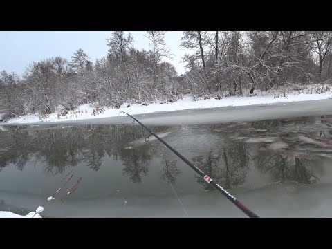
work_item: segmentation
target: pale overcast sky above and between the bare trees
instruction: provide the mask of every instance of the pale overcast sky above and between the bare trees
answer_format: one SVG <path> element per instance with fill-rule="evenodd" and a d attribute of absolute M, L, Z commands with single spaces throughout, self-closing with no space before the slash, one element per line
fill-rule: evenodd
<path fill-rule="evenodd" d="M 89 55 L 91 60 L 107 55 L 106 39 L 111 31 L 0 31 L 0 71 L 24 73 L 31 62 L 39 62 L 48 57 L 64 57 L 71 59 L 79 48 Z M 145 31 L 133 31 L 133 46 L 139 50 L 149 50 L 149 39 Z M 165 42 L 174 54 L 171 62 L 178 75 L 185 73 L 185 64 L 181 63 L 184 48 L 180 47 L 182 31 L 169 31 Z"/>

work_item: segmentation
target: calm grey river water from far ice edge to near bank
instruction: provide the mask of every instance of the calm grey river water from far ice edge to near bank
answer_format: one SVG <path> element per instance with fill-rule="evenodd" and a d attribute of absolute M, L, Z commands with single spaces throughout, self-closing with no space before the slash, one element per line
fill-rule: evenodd
<path fill-rule="evenodd" d="M 184 207 L 190 217 L 246 216 L 130 121 L 2 128 L 0 210 L 186 217 Z M 149 128 L 259 216 L 332 216 L 332 116 Z"/>

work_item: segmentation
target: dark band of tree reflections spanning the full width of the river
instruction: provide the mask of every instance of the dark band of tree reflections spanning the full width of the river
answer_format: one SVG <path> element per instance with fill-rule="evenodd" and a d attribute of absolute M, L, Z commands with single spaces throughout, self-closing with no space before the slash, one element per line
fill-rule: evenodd
<path fill-rule="evenodd" d="M 168 140 L 170 127 L 150 127 L 163 132 Z M 194 129 L 194 128 L 192 128 Z M 230 189 L 245 183 L 248 170 L 269 174 L 273 181 L 317 183 L 322 172 L 322 160 L 332 154 L 331 116 L 262 120 L 219 126 L 201 126 L 201 134 L 224 145 L 216 147 L 202 141 L 204 154 L 195 154 L 189 160 L 211 176 L 214 181 Z M 165 133 L 165 131 L 167 131 Z M 232 131 L 232 132 L 230 132 Z M 185 132 L 177 129 L 176 139 Z M 197 134 L 197 132 L 196 132 Z M 160 142 L 144 142 L 148 134 L 136 125 L 86 125 L 77 127 L 8 127 L 0 131 L 0 170 L 12 164 L 19 170 L 32 161 L 44 166 L 48 174 L 59 174 L 68 167 L 84 163 L 93 171 L 102 167 L 105 158 L 122 163 L 122 174 L 133 183 L 142 183 L 149 174 L 149 162 L 159 160 L 160 178 L 175 183 L 181 174 L 178 162 L 160 154 Z M 142 143 L 135 142 L 142 140 Z M 199 145 L 195 145 L 199 146 Z M 181 152 L 181 148 L 175 148 Z M 183 165 L 183 162 L 181 162 Z M 252 167 L 251 167 L 251 166 Z M 202 178 L 196 177 L 205 189 L 212 190 Z"/>

